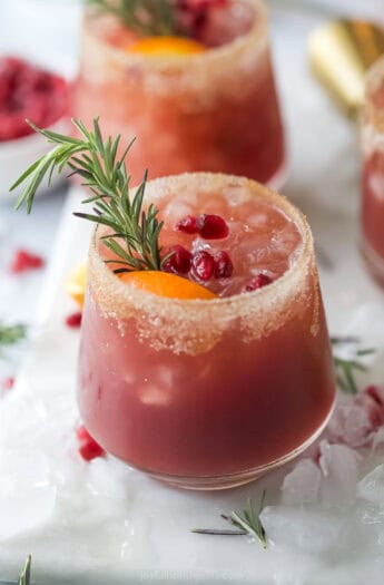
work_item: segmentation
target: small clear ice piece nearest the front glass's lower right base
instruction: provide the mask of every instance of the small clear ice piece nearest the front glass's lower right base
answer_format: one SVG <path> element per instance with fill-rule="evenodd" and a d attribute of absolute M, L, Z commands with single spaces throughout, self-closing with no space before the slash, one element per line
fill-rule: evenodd
<path fill-rule="evenodd" d="M 322 471 L 312 459 L 302 459 L 285 476 L 282 486 L 282 500 L 286 505 L 312 504 L 317 501 Z"/>

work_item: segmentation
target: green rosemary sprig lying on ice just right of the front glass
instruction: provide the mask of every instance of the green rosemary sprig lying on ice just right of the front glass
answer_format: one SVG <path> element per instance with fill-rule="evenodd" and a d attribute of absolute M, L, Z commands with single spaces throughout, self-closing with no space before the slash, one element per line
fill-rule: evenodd
<path fill-rule="evenodd" d="M 333 347 L 341 345 L 345 343 L 358 343 L 358 338 L 355 337 L 346 337 L 346 338 L 338 338 L 334 337 L 331 338 Z M 354 355 L 348 358 L 341 358 L 334 353 L 334 367 L 335 367 L 335 373 L 336 373 L 336 382 L 338 388 L 347 393 L 347 394 L 356 394 L 358 391 L 357 383 L 355 380 L 355 373 L 356 372 L 366 372 L 367 367 L 362 361 L 362 358 L 365 358 L 366 355 L 372 355 L 375 353 L 375 349 L 357 349 L 354 352 Z"/>

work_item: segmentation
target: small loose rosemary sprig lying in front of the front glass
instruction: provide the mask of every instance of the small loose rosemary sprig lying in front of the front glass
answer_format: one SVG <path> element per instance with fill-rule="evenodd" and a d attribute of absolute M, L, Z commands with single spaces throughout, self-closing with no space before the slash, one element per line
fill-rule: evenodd
<path fill-rule="evenodd" d="M 221 514 L 221 518 L 237 527 L 237 530 L 220 530 L 217 528 L 193 528 L 194 534 L 220 535 L 220 536 L 252 536 L 259 540 L 263 548 L 267 547 L 267 536 L 260 520 L 260 514 L 265 508 L 266 489 L 263 491 L 258 510 L 255 514 L 252 499 L 247 499 L 247 506 L 243 515 L 232 511 L 229 516 Z"/>

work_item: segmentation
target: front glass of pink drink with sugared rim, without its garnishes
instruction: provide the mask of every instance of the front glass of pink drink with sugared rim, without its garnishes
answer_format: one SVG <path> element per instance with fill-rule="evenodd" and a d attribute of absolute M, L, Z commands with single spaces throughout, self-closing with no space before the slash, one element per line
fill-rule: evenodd
<path fill-rule="evenodd" d="M 165 250 L 229 253 L 221 298 L 179 301 L 122 283 L 96 233 L 89 255 L 78 400 L 110 454 L 179 487 L 249 481 L 305 449 L 335 396 L 309 227 L 286 199 L 252 181 L 195 174 L 147 186 Z M 219 214 L 224 240 L 175 231 Z M 110 266 L 110 265 L 109 265 Z M 245 292 L 255 275 L 274 282 Z M 200 281 L 198 281 L 200 282 Z"/>

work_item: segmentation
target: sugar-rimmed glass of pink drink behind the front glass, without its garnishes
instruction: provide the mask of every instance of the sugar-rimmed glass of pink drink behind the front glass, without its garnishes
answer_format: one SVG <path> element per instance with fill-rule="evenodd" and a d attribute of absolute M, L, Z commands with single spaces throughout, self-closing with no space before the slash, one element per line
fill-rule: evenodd
<path fill-rule="evenodd" d="M 210 170 L 279 185 L 285 153 L 260 0 L 211 10 L 197 55 L 131 53 L 137 37 L 114 18 L 88 11 L 82 28 L 75 114 L 100 116 L 106 135 L 137 136 L 134 183 Z"/>

